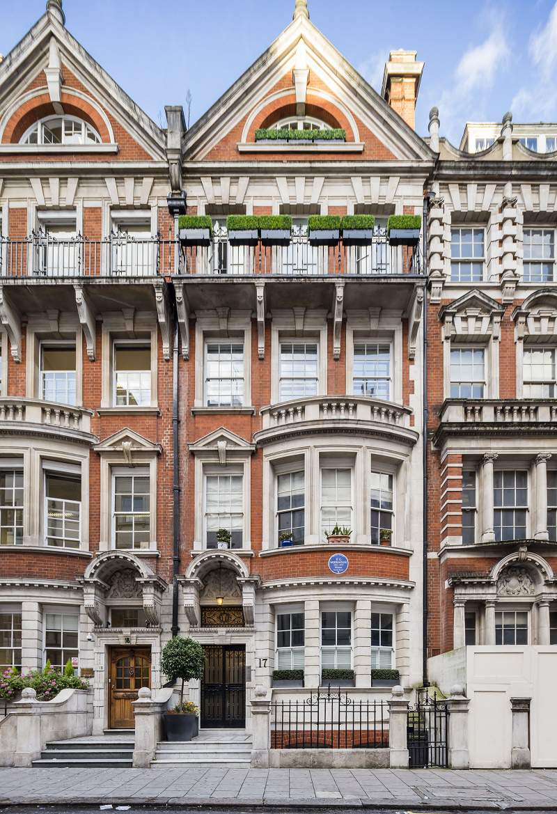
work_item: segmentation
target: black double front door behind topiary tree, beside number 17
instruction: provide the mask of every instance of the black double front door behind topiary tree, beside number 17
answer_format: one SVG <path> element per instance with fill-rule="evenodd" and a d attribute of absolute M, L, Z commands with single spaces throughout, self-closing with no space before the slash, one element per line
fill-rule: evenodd
<path fill-rule="evenodd" d="M 246 725 L 246 648 L 206 645 L 201 684 L 201 726 L 204 729 Z"/>

